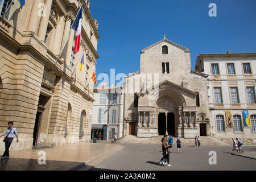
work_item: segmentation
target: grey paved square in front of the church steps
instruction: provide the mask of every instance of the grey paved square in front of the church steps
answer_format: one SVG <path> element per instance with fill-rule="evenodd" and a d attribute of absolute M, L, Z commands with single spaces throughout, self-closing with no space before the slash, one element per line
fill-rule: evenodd
<path fill-rule="evenodd" d="M 162 147 L 158 144 L 122 144 L 124 148 L 97 164 L 90 170 L 256 170 L 256 160 L 243 156 L 231 155 L 232 146 L 184 146 L 178 154 L 176 146 L 170 154 L 172 167 L 159 166 L 162 158 Z M 256 146 L 243 146 L 243 150 L 250 155 L 256 154 Z M 209 164 L 209 151 L 216 151 L 217 164 Z M 79 170 L 85 170 L 82 167 Z"/>

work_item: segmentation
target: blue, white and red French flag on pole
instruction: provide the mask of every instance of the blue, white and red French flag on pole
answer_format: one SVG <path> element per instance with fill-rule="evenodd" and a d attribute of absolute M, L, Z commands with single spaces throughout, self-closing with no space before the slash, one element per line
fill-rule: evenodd
<path fill-rule="evenodd" d="M 80 7 L 79 13 L 77 13 L 76 19 L 72 24 L 72 28 L 76 31 L 76 43 L 74 52 L 79 52 L 79 47 L 81 43 L 81 29 L 82 29 L 82 6 Z"/>

